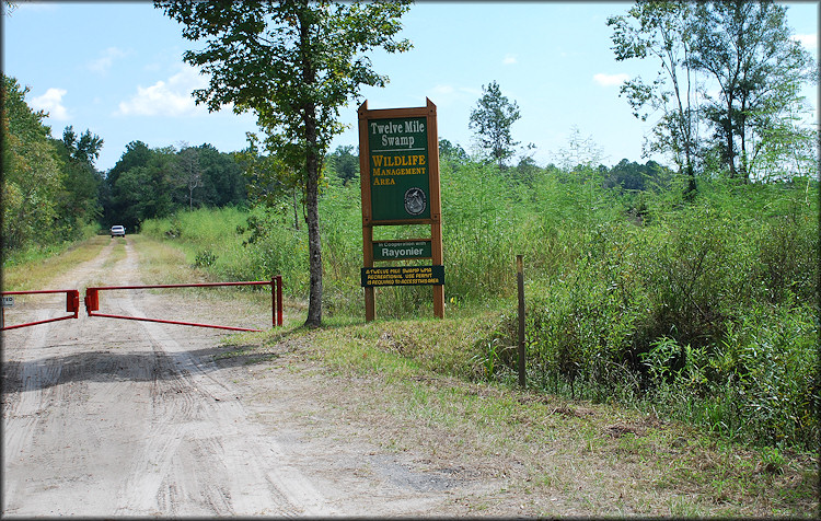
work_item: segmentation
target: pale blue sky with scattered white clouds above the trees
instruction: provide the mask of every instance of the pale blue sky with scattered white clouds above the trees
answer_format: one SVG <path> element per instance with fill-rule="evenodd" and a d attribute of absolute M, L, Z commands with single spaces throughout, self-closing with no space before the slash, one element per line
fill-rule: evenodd
<path fill-rule="evenodd" d="M 183 38 L 182 25 L 151 2 L 16 2 L 2 16 L 3 72 L 30 89 L 26 102 L 48 113 L 56 138 L 71 125 L 104 140 L 96 167 L 106 172 L 136 140 L 151 148 L 209 143 L 242 150 L 257 131 L 253 114 L 209 113 L 192 91 L 207 78 L 182 55 L 200 44 Z M 818 59 L 818 2 L 784 2 L 795 37 Z M 621 83 L 656 78 L 658 63 L 616 61 L 609 16 L 633 2 L 432 2 L 414 4 L 402 18 L 404 54 L 374 51 L 374 69 L 390 78 L 362 88 L 340 121 L 349 128 L 332 143 L 358 146 L 357 108 L 437 105 L 439 138 L 474 150 L 471 111 L 483 88 L 496 81 L 521 118 L 511 126 L 520 148 L 540 165 L 559 163 L 573 132 L 589 138 L 601 163 L 644 163 L 641 146 L 652 121 L 632 115 Z M 805 95 L 818 105 L 817 86 Z M 816 111 L 817 114 L 817 111 Z M 522 150 L 521 153 L 524 153 Z M 520 154 L 521 155 L 521 154 Z M 651 157 L 670 164 L 663 157 Z"/>

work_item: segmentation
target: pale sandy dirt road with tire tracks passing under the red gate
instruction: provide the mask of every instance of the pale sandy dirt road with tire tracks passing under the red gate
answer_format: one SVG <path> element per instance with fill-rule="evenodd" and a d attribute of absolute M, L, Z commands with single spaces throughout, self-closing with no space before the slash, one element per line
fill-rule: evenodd
<path fill-rule="evenodd" d="M 118 241 L 43 289 L 82 299 L 88 286 L 141 283 L 131 239 L 114 256 Z M 192 296 L 109 293 L 101 303 L 117 314 L 270 320 L 269 309 L 208 309 Z M 14 321 L 47 317 L 37 308 L 19 306 Z M 335 392 L 327 379 L 219 363 L 227 334 L 84 309 L 3 332 L 3 517 L 452 516 L 498 490 L 346 428 L 344 410 L 322 403 Z"/>

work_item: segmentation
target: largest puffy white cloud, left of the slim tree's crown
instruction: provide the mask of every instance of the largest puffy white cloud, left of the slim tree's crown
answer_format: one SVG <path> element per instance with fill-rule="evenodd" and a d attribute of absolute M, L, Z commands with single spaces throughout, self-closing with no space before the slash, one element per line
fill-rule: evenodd
<path fill-rule="evenodd" d="M 158 81 L 151 86 L 137 85 L 137 94 L 120 102 L 118 116 L 193 116 L 205 114 L 207 108 L 194 103 L 192 92 L 208 85 L 208 79 L 198 69 L 185 66 L 182 71 Z"/>

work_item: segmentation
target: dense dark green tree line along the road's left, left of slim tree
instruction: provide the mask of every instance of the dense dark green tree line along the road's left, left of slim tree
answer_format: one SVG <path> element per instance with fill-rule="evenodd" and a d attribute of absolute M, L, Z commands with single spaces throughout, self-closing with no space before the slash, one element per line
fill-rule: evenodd
<path fill-rule="evenodd" d="M 72 242 L 101 228 L 139 230 L 146 219 L 187 208 L 247 202 L 242 160 L 210 144 L 150 148 L 128 143 L 107 172 L 95 162 L 104 140 L 90 130 L 51 137 L 47 116 L 25 102 L 27 88 L 3 74 L 3 259 Z"/>

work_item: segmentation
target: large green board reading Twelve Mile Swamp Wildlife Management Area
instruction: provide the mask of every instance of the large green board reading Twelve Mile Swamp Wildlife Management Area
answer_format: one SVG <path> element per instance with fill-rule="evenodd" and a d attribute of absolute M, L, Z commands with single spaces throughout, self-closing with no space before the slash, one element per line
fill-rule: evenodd
<path fill-rule="evenodd" d="M 369 119 L 371 219 L 430 219 L 426 117 Z"/>

